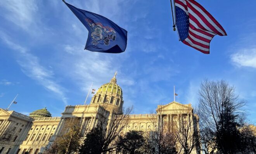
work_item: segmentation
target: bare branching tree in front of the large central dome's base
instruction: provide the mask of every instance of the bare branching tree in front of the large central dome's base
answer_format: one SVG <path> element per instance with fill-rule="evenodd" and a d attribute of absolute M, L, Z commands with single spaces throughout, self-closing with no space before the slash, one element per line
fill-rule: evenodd
<path fill-rule="evenodd" d="M 115 151 L 116 145 L 114 140 L 117 139 L 120 132 L 127 126 L 130 121 L 129 114 L 132 111 L 131 108 L 119 109 L 116 106 L 110 104 L 100 104 L 97 109 L 97 129 L 99 129 L 99 146 L 100 153 L 107 153 Z M 88 148 L 88 147 L 87 147 Z M 93 148 L 93 147 L 92 147 Z M 81 153 L 86 153 L 83 151 L 83 147 L 80 149 Z"/>

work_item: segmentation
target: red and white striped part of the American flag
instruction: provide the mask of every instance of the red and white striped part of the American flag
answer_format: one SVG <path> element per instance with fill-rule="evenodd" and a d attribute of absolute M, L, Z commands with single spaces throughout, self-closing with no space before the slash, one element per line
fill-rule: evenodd
<path fill-rule="evenodd" d="M 189 35 L 182 41 L 184 44 L 209 54 L 211 39 L 215 35 L 227 35 L 218 21 L 195 0 L 175 0 L 175 6 L 189 15 Z"/>

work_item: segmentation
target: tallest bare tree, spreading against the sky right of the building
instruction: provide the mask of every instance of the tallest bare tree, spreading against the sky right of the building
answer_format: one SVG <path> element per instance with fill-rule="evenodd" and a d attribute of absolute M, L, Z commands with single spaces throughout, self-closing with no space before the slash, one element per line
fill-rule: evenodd
<path fill-rule="evenodd" d="M 210 132 L 208 134 L 212 135 L 212 139 L 206 139 L 215 140 L 218 151 L 223 154 L 234 153 L 239 147 L 237 123 L 244 112 L 244 105 L 245 101 L 238 98 L 235 88 L 226 81 L 202 82 L 199 89 L 200 128 Z"/>

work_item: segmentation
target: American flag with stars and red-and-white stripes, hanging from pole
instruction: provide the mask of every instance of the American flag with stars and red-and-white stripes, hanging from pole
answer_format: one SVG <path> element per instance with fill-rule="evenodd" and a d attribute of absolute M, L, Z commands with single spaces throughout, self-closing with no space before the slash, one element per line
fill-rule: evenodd
<path fill-rule="evenodd" d="M 175 13 L 180 41 L 202 53 L 210 53 L 215 35 L 227 35 L 219 22 L 194 0 L 175 0 Z"/>

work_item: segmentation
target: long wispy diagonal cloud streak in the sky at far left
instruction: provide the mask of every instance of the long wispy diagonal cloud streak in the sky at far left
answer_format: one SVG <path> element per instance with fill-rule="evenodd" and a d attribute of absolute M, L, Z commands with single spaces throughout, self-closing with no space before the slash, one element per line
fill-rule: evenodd
<path fill-rule="evenodd" d="M 66 91 L 62 86 L 54 81 L 54 72 L 48 70 L 47 68 L 40 65 L 40 60 L 37 56 L 32 55 L 29 51 L 20 46 L 17 43 L 12 42 L 12 40 L 5 33 L 1 32 L 0 38 L 4 43 L 6 43 L 10 48 L 17 51 L 19 58 L 17 62 L 21 66 L 22 72 L 28 77 L 38 81 L 43 87 L 48 91 L 54 92 L 62 101 L 67 104 L 67 98 L 64 91 Z"/>

